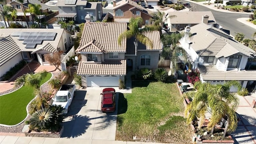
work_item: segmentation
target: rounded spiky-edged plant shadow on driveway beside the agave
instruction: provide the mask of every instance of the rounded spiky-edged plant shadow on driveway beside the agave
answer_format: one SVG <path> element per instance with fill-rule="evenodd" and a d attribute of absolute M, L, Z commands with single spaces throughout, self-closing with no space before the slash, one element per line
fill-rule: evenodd
<path fill-rule="evenodd" d="M 74 115 L 69 120 L 63 122 L 64 132 L 62 138 L 76 138 L 86 132 L 91 125 L 89 116 Z"/>

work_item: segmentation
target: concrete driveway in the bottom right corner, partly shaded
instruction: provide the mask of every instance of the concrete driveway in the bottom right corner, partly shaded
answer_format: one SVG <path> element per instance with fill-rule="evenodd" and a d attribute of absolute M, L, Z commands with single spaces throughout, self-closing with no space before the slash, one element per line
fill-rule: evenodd
<path fill-rule="evenodd" d="M 256 94 L 238 96 L 240 104 L 236 112 L 240 115 L 240 122 L 232 137 L 235 144 L 256 144 L 256 109 L 252 108 L 252 100 Z"/>

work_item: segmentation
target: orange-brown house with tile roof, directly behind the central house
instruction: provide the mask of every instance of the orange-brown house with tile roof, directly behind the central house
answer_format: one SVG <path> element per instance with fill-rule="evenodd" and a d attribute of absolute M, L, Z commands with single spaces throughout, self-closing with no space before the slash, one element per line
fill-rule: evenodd
<path fill-rule="evenodd" d="M 141 17 L 143 19 L 143 25 L 150 24 L 152 12 L 132 0 L 122 0 L 120 2 L 114 0 L 113 6 L 115 22 L 128 23 L 130 18 Z"/>

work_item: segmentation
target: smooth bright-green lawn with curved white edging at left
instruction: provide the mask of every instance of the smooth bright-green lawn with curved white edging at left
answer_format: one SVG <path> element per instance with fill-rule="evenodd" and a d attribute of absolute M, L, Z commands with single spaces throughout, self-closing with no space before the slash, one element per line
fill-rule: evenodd
<path fill-rule="evenodd" d="M 51 78 L 48 73 L 41 85 Z M 15 125 L 27 116 L 26 106 L 34 98 L 34 89 L 30 86 L 22 88 L 4 96 L 0 96 L 0 124 Z"/>

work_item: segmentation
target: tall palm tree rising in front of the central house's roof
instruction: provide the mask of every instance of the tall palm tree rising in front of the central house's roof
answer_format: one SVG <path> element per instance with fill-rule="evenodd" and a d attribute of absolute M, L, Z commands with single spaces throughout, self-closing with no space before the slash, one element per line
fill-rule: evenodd
<path fill-rule="evenodd" d="M 148 37 L 146 37 L 144 35 L 144 32 L 148 32 L 150 31 L 147 28 L 141 28 L 142 27 L 142 18 L 138 17 L 138 18 L 131 18 L 130 22 L 128 24 L 128 30 L 126 30 L 125 32 L 121 33 L 118 36 L 118 45 L 121 46 L 122 45 L 122 41 L 125 39 L 130 39 L 130 38 L 135 38 L 134 40 L 134 44 L 135 44 L 135 51 L 137 54 L 137 46 L 138 46 L 138 42 L 141 42 L 142 44 L 144 44 L 145 46 L 149 46 L 151 49 L 153 49 L 153 42 L 152 40 L 150 40 Z M 135 60 L 135 66 L 137 66 L 137 59 Z"/>

